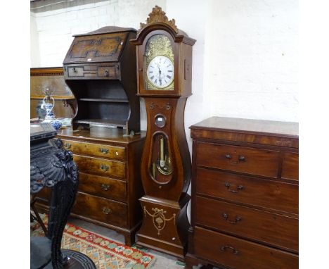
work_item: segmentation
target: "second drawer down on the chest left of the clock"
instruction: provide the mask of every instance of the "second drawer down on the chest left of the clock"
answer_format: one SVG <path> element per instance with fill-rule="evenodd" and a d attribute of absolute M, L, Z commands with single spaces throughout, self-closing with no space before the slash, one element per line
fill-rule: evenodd
<path fill-rule="evenodd" d="M 126 176 L 126 164 L 120 161 L 79 155 L 74 155 L 73 160 L 82 173 L 120 177 L 122 179 Z"/>

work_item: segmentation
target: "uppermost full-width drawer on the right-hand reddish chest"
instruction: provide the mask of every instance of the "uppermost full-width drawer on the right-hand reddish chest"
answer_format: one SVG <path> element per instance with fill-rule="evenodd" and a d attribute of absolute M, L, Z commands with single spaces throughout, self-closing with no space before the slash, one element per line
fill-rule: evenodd
<path fill-rule="evenodd" d="M 298 213 L 298 185 L 198 168 L 196 192 L 247 205 Z"/>

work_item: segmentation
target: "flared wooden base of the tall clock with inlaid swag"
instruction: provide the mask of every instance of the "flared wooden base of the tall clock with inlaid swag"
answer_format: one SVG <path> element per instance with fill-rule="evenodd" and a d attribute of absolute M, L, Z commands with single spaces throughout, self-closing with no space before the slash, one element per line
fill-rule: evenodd
<path fill-rule="evenodd" d="M 191 196 L 183 194 L 179 202 L 143 196 L 143 223 L 138 231 L 138 246 L 146 246 L 183 260 L 187 251 L 187 206 Z"/>

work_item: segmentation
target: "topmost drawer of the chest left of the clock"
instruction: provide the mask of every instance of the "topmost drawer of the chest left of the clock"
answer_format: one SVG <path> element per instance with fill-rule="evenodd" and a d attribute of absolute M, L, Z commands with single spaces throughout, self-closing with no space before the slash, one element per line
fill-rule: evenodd
<path fill-rule="evenodd" d="M 93 144 L 65 139 L 63 139 L 63 145 L 65 149 L 72 151 L 74 154 L 87 154 L 118 160 L 124 160 L 126 158 L 126 149 L 123 146 Z"/>

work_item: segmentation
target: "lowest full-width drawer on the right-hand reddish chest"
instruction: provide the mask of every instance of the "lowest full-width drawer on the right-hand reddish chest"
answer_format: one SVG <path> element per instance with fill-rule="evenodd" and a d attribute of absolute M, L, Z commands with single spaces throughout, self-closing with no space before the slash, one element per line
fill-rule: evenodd
<path fill-rule="evenodd" d="M 212 232 L 201 227 L 194 230 L 194 254 L 236 269 L 297 269 L 298 256 L 243 239 Z"/>

